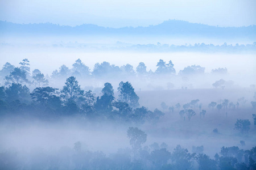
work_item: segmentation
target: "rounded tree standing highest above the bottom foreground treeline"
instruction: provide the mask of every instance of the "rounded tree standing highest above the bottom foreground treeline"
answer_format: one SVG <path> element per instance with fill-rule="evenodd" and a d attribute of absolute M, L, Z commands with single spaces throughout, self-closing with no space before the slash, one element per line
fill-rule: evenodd
<path fill-rule="evenodd" d="M 130 145 L 134 152 L 134 159 L 136 159 L 136 154 L 138 150 L 141 149 L 141 145 L 147 141 L 147 134 L 138 128 L 130 127 L 127 130 L 127 137 L 130 139 Z"/>

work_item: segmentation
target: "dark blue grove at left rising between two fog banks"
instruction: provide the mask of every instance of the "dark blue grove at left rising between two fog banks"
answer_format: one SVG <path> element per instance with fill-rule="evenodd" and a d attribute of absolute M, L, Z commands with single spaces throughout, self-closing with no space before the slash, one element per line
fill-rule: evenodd
<path fill-rule="evenodd" d="M 42 75 L 37 74 L 36 77 Z M 26 73 L 15 68 L 6 76 L 8 86 L 0 87 L 1 114 L 30 114 L 39 118 L 53 118 L 79 114 L 99 120 L 118 120 L 141 124 L 156 121 L 163 113 L 139 107 L 139 97 L 129 82 L 120 82 L 118 99 L 115 100 L 113 86 L 105 83 L 101 96 L 92 91 L 81 90 L 79 82 L 70 76 L 61 90 L 53 87 L 36 87 L 32 92 L 26 83 Z M 48 83 L 45 79 L 39 84 Z"/>

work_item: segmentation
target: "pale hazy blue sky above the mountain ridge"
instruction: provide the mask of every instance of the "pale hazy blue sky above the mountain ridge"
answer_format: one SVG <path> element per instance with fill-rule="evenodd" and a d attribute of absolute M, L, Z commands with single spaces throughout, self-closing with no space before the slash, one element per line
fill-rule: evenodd
<path fill-rule="evenodd" d="M 256 24 L 255 0 L 0 0 L 0 20 L 15 23 L 147 26 L 178 19 L 219 26 Z"/>

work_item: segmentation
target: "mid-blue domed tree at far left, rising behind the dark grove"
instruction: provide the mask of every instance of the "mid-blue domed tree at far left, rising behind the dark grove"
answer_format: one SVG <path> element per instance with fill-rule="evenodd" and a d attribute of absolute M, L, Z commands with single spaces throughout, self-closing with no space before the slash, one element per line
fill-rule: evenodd
<path fill-rule="evenodd" d="M 6 85 L 11 83 L 16 83 L 16 84 L 30 83 L 29 80 L 27 79 L 26 72 L 20 70 L 18 67 L 16 67 L 14 71 L 10 73 L 10 75 L 5 76 L 5 79 L 7 81 L 5 82 Z"/>

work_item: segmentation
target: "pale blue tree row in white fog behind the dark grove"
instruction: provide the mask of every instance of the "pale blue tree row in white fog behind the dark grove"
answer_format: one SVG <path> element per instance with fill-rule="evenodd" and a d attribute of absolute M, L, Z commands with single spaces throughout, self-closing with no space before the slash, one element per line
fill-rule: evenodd
<path fill-rule="evenodd" d="M 59 70 L 54 70 L 50 76 L 44 75 L 40 70 L 35 69 L 32 71 L 32 75 L 30 73 L 30 61 L 28 59 L 23 59 L 20 62 L 19 67 L 15 67 L 11 65 L 11 63 L 7 62 L 3 65 L 2 70 L 0 70 L 1 79 L 5 79 L 7 83 L 9 82 L 10 73 L 12 74 L 26 74 L 27 78 L 31 80 L 30 83 L 34 83 L 35 86 L 45 86 L 47 85 L 47 81 L 43 81 L 44 78 L 51 79 L 52 81 L 68 78 L 69 76 L 76 76 L 77 78 L 115 78 L 120 77 L 146 77 L 146 78 L 155 78 L 159 75 L 180 75 L 180 76 L 189 76 L 189 75 L 198 75 L 205 73 L 205 67 L 201 67 L 199 65 L 187 66 L 183 70 L 180 70 L 179 73 L 176 73 L 174 68 L 174 63 L 170 60 L 169 62 L 163 61 L 163 59 L 159 59 L 159 62 L 156 63 L 156 70 L 147 71 L 147 66 L 140 62 L 139 65 L 134 69 L 129 63 L 123 65 L 121 67 L 110 65 L 109 62 L 96 63 L 92 71 L 90 71 L 89 67 L 86 66 L 81 59 L 77 59 L 75 63 L 72 65 L 72 69 L 69 69 L 65 65 L 61 65 Z M 20 69 L 20 70 L 19 70 Z M 24 72 L 24 73 L 23 73 Z M 228 70 L 226 68 L 218 68 L 213 69 L 211 74 L 227 74 Z M 41 82 L 40 82 L 41 80 Z M 28 82 L 27 82 L 28 83 Z M 41 83 L 41 84 L 38 84 Z"/>

